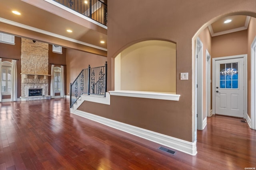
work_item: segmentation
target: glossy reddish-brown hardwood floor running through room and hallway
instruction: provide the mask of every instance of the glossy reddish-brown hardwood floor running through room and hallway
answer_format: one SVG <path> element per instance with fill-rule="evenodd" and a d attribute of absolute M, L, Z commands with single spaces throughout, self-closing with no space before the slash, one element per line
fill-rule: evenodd
<path fill-rule="evenodd" d="M 0 103 L 0 170 L 169 170 L 256 167 L 256 131 L 213 116 L 196 156 L 70 115 L 68 99 Z"/>

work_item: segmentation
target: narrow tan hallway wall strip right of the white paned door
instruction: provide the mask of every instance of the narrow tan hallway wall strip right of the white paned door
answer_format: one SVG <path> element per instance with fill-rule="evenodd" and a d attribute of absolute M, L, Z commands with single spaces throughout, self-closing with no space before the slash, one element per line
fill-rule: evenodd
<path fill-rule="evenodd" d="M 248 101 L 248 115 L 251 117 L 251 45 L 252 41 L 256 36 L 256 18 L 251 17 L 250 23 L 248 25 L 248 45 L 247 45 L 247 101 Z"/>

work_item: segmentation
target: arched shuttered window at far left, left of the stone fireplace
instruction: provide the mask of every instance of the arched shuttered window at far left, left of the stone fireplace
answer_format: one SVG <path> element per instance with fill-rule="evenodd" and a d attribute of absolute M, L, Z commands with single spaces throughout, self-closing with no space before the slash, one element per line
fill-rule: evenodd
<path fill-rule="evenodd" d="M 2 94 L 11 94 L 12 87 L 12 64 L 8 61 L 2 62 Z"/>

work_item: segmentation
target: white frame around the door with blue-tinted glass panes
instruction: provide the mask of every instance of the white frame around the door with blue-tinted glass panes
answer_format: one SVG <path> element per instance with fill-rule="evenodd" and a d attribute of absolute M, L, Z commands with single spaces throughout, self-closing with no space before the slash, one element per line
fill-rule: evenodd
<path fill-rule="evenodd" d="M 215 62 L 219 60 L 226 60 L 226 59 L 237 59 L 243 58 L 244 59 L 244 119 L 246 119 L 247 115 L 247 54 L 244 55 L 234 55 L 228 57 L 218 57 L 212 59 L 212 114 L 215 114 Z"/>

